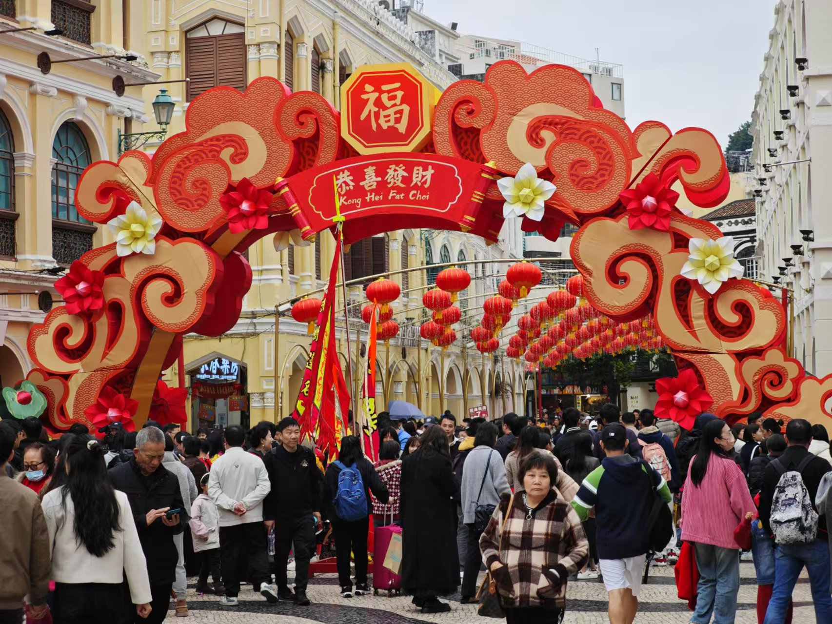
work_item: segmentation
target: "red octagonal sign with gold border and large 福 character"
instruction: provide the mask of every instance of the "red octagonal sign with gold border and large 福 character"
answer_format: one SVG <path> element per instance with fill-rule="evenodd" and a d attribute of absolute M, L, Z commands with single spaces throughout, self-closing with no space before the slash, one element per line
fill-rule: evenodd
<path fill-rule="evenodd" d="M 341 136 L 359 154 L 418 151 L 430 140 L 434 91 L 404 63 L 359 67 L 341 86 Z"/>

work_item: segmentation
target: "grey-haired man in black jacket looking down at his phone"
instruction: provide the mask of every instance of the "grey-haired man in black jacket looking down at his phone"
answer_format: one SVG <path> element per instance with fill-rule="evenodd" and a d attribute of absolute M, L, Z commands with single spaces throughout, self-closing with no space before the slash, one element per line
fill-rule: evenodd
<path fill-rule="evenodd" d="M 148 427 L 136 435 L 136 450 L 128 463 L 109 471 L 113 487 L 127 495 L 141 550 L 147 560 L 151 582 L 152 611 L 149 617 L 136 616 L 141 624 L 161 624 L 171 602 L 171 588 L 176 577 L 179 555 L 173 536 L 184 528 L 180 518 L 187 520 L 187 511 L 171 518 L 166 513 L 182 508 L 179 480 L 162 465 L 165 457 L 165 434 Z"/>

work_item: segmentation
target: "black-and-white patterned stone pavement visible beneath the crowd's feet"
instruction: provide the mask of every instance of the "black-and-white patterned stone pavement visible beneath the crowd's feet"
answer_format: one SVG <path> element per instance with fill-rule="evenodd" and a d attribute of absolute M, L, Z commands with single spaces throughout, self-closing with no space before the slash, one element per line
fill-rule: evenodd
<path fill-rule="evenodd" d="M 740 595 L 736 624 L 756 624 L 755 601 L 757 588 L 754 582 L 754 566 L 740 564 Z M 409 597 L 379 596 L 342 598 L 334 574 L 314 577 L 310 581 L 308 594 L 312 605 L 296 607 L 279 603 L 268 605 L 260 594 L 252 592 L 249 586 L 240 592 L 240 606 L 223 608 L 215 596 L 197 596 L 194 592 L 196 579 L 191 579 L 187 601 L 191 615 L 178 618 L 169 613 L 166 622 L 181 624 L 418 624 L 433 622 L 443 624 L 484 624 L 498 622 L 478 617 L 475 605 L 460 605 L 459 597 L 451 601 L 448 613 L 424 615 L 410 603 Z M 814 624 L 815 612 L 808 578 L 805 573 L 794 593 L 794 622 Z M 641 605 L 636 624 L 684 624 L 690 619 L 686 603 L 676 597 L 673 568 L 652 567 L 648 583 L 641 589 Z M 600 581 L 572 581 L 567 591 L 567 615 L 565 624 L 606 624 L 607 593 Z"/>

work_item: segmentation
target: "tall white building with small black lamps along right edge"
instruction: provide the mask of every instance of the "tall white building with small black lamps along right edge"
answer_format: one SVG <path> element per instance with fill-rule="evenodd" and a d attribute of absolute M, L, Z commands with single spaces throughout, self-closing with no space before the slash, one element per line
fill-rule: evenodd
<path fill-rule="evenodd" d="M 832 3 L 775 5 L 751 117 L 760 277 L 794 290 L 791 355 L 832 372 Z"/>

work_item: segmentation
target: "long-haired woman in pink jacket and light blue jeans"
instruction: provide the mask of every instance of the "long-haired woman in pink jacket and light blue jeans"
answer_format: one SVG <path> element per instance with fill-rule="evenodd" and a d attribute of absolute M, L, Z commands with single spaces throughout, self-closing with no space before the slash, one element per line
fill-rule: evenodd
<path fill-rule="evenodd" d="M 733 624 L 740 589 L 740 547 L 734 529 L 756 508 L 731 451 L 724 420 L 709 421 L 691 462 L 681 499 L 681 538 L 693 542 L 699 568 L 694 624 Z"/>

